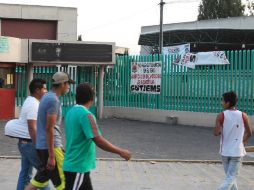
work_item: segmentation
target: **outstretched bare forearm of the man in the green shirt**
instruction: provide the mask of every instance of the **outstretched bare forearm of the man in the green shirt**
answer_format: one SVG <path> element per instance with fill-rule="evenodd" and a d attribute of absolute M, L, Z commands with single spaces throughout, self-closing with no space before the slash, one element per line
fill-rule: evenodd
<path fill-rule="evenodd" d="M 125 160 L 129 160 L 131 158 L 131 154 L 130 154 L 130 152 L 128 150 L 119 148 L 119 147 L 111 144 L 109 141 L 107 141 L 102 136 L 94 137 L 93 141 L 102 150 L 105 150 L 107 152 L 112 152 L 112 153 L 115 153 L 115 154 L 119 154 Z"/>

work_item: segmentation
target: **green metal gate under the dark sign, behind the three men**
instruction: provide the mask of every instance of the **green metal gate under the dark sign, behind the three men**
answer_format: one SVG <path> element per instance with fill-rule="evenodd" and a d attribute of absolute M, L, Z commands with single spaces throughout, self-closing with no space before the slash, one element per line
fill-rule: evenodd
<path fill-rule="evenodd" d="M 47 82 L 48 90 L 51 89 L 52 76 L 57 71 L 67 72 L 76 84 L 70 86 L 70 91 L 64 96 L 60 97 L 62 103 L 62 114 L 65 116 L 66 112 L 76 104 L 75 90 L 77 84 L 88 82 L 95 87 L 97 92 L 96 73 L 97 67 L 76 67 L 76 66 L 35 66 L 33 68 L 34 78 L 42 78 Z M 26 66 L 18 65 L 15 70 L 16 75 L 16 106 L 22 106 L 27 97 L 27 76 Z M 96 115 L 96 105 L 90 109 Z"/>

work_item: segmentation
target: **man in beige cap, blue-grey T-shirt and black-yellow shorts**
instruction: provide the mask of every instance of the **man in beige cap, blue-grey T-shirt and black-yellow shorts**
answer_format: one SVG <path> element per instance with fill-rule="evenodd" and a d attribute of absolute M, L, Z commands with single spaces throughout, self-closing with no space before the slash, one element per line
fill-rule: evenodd
<path fill-rule="evenodd" d="M 42 162 L 42 167 L 26 189 L 44 187 L 51 180 L 56 189 L 65 189 L 65 179 L 62 170 L 64 153 L 61 139 L 61 103 L 60 96 L 64 96 L 70 89 L 71 80 L 67 73 L 57 72 L 52 77 L 52 89 L 43 96 L 37 124 L 36 149 Z"/>

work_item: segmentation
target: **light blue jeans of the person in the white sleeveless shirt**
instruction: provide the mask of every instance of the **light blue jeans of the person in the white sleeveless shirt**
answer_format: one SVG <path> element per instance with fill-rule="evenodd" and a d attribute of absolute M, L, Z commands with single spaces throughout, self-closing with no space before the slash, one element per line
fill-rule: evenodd
<path fill-rule="evenodd" d="M 226 177 L 218 190 L 238 190 L 236 178 L 242 165 L 242 157 L 222 156 Z"/>

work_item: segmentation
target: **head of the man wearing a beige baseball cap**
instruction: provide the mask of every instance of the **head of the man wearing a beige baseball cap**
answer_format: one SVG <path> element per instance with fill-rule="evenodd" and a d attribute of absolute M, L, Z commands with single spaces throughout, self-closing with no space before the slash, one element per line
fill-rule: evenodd
<path fill-rule="evenodd" d="M 69 92 L 70 84 L 75 84 L 75 81 L 65 72 L 56 72 L 52 77 L 52 88 L 57 89 L 61 96 Z"/>

